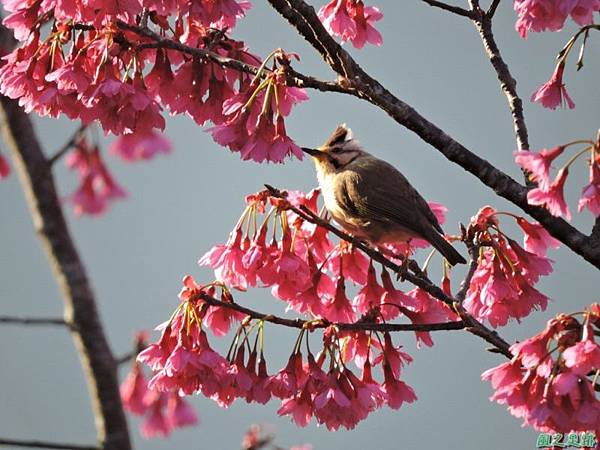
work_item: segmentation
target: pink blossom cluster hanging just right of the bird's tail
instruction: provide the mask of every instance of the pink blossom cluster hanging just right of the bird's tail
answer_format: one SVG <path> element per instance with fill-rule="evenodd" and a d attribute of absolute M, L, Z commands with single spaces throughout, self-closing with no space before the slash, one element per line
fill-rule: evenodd
<path fill-rule="evenodd" d="M 524 247 L 501 231 L 498 219 L 502 215 L 514 218 L 521 227 Z M 471 219 L 467 236 L 480 245 L 477 269 L 464 302 L 467 311 L 498 327 L 510 319 L 520 320 L 534 309 L 546 309 L 548 298 L 534 285 L 552 272 L 546 250 L 558 247 L 558 241 L 540 224 L 486 206 Z"/>

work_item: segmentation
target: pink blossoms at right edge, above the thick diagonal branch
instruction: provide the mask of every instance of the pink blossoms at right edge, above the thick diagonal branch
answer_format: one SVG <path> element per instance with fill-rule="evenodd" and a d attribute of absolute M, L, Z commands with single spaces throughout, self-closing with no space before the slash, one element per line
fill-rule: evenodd
<path fill-rule="evenodd" d="M 573 145 L 583 145 L 584 148 L 576 152 L 551 179 L 552 163 L 564 151 Z M 571 219 L 571 211 L 565 200 L 565 183 L 569 175 L 569 168 L 579 158 L 586 157 L 585 162 L 589 167 L 589 181 L 582 191 L 577 204 L 577 211 L 589 210 L 595 217 L 600 216 L 600 135 L 596 142 L 582 140 L 559 145 L 552 149 L 543 149 L 539 152 L 519 150 L 515 152 L 515 161 L 537 183 L 537 187 L 527 193 L 527 201 L 531 205 L 543 206 L 556 217 Z"/>

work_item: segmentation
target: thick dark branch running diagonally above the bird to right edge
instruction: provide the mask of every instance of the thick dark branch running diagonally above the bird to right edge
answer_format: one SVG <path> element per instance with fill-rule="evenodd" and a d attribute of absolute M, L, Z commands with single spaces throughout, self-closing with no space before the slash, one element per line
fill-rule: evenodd
<path fill-rule="evenodd" d="M 387 112 L 396 122 L 413 131 L 425 142 L 442 153 L 449 161 L 459 165 L 540 222 L 556 239 L 560 240 L 586 261 L 600 268 L 600 248 L 588 244 L 587 236 L 563 219 L 553 217 L 544 208 L 527 203 L 527 188 L 496 169 L 488 161 L 469 151 L 448 136 L 435 124 L 421 116 L 414 108 L 395 97 L 377 80 L 368 75 L 352 57 L 327 33 L 314 8 L 302 0 L 269 0 L 311 44 L 346 83 L 354 88 L 353 95 L 369 101 Z"/>

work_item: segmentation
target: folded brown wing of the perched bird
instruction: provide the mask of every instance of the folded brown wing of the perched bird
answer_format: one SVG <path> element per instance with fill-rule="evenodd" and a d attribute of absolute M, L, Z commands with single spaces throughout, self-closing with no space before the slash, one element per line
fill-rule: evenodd
<path fill-rule="evenodd" d="M 373 220 L 389 220 L 424 236 L 442 228 L 423 197 L 394 166 L 372 158 L 343 173 L 336 198 L 347 210 Z M 352 211 L 354 210 L 354 211 Z"/>

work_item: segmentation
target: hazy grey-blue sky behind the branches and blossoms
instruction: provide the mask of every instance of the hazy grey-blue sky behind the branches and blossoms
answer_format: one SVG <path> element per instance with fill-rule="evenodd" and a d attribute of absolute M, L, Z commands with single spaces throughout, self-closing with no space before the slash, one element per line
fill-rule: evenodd
<path fill-rule="evenodd" d="M 275 47 L 297 52 L 301 62 L 295 67 L 299 71 L 333 77 L 312 48 L 266 2 L 253 3 L 234 37 L 245 40 L 263 56 Z M 315 6 L 322 3 L 315 2 Z M 474 27 L 464 18 L 432 9 L 419 0 L 379 0 L 376 5 L 385 14 L 378 25 L 384 44 L 362 51 L 351 49 L 352 54 L 401 99 L 469 149 L 519 178 L 512 158 L 515 139 L 506 100 Z M 560 34 L 532 34 L 522 40 L 514 31 L 516 16 L 511 5 L 509 1 L 500 5 L 495 33 L 519 80 L 532 148 L 595 136 L 600 117 L 600 36 L 590 36 L 584 69 L 576 74 L 572 60 L 566 71 L 577 108 L 546 111 L 528 98 L 550 77 L 555 54 L 575 26 L 568 22 Z M 309 95 L 310 101 L 297 107 L 287 121 L 289 134 L 299 144 L 319 144 L 338 123 L 347 122 L 369 151 L 396 165 L 427 199 L 449 208 L 447 231 L 455 231 L 458 222 L 468 222 L 488 203 L 518 212 L 379 109 L 349 96 L 314 91 Z M 36 123 L 48 152 L 59 148 L 75 126 L 67 121 Z M 152 329 L 170 316 L 183 275 L 192 274 L 199 281 L 212 279 L 212 273 L 199 268 L 196 261 L 212 245 L 227 239 L 246 194 L 260 190 L 263 183 L 304 190 L 316 184 L 310 162 L 243 162 L 214 144 L 188 118 L 170 119 L 166 134 L 174 144 L 171 156 L 136 165 L 107 158 L 129 191 L 129 199 L 115 204 L 102 218 L 77 219 L 67 208 L 68 222 L 117 355 L 130 350 L 137 330 Z M 63 164 L 56 175 L 61 195 L 72 192 L 76 175 L 68 173 Z M 587 171 L 578 164 L 568 182 L 573 211 L 586 182 Z M 14 174 L 0 183 L 0 201 L 0 314 L 60 316 L 61 297 Z M 591 218 L 587 213 L 575 214 L 573 223 L 587 231 Z M 514 236 L 521 238 L 517 233 Z M 422 261 L 424 256 L 418 259 Z M 511 342 L 537 333 L 559 311 L 574 312 L 598 301 L 596 270 L 567 250 L 553 252 L 551 257 L 556 259 L 555 273 L 540 286 L 554 301 L 547 311 L 532 314 L 521 326 L 501 329 Z M 434 278 L 439 277 L 436 274 Z M 283 313 L 283 303 L 274 300 L 269 290 L 256 289 L 236 298 L 262 311 Z M 266 338 L 267 361 L 274 371 L 286 361 L 294 334 L 268 325 Z M 353 431 L 328 432 L 314 421 L 307 428 L 297 428 L 287 417 L 277 417 L 275 401 L 266 407 L 238 401 L 224 410 L 203 397 L 192 397 L 202 420 L 199 427 L 176 431 L 169 439 L 145 441 L 139 436 L 138 420 L 130 418 L 135 446 L 232 450 L 240 447 L 242 435 L 252 423 L 270 423 L 279 445 L 310 442 L 316 450 L 535 448 L 537 433 L 522 429 L 520 421 L 503 406 L 488 400 L 491 389 L 480 381 L 480 374 L 503 358 L 486 352 L 483 341 L 462 332 L 438 332 L 433 335 L 433 348 L 417 351 L 412 333 L 398 338 L 414 357 L 404 371 L 404 380 L 419 400 L 400 411 L 384 408 L 373 413 Z M 211 342 L 217 345 L 216 339 Z M 316 340 L 313 342 L 316 345 Z M 0 436 L 94 442 L 87 388 L 65 330 L 1 326 L 0 357 Z M 121 369 L 121 378 L 127 370 Z"/>

